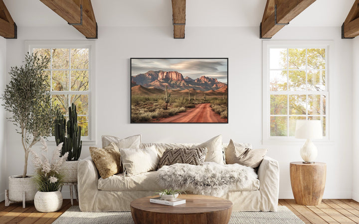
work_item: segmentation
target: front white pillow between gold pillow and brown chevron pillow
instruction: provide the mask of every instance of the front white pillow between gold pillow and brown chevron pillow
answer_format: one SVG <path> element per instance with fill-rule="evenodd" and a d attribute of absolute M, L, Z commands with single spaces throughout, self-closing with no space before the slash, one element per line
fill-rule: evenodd
<path fill-rule="evenodd" d="M 133 149 L 120 148 L 124 174 L 128 176 L 156 170 L 160 157 L 155 146 Z"/>

